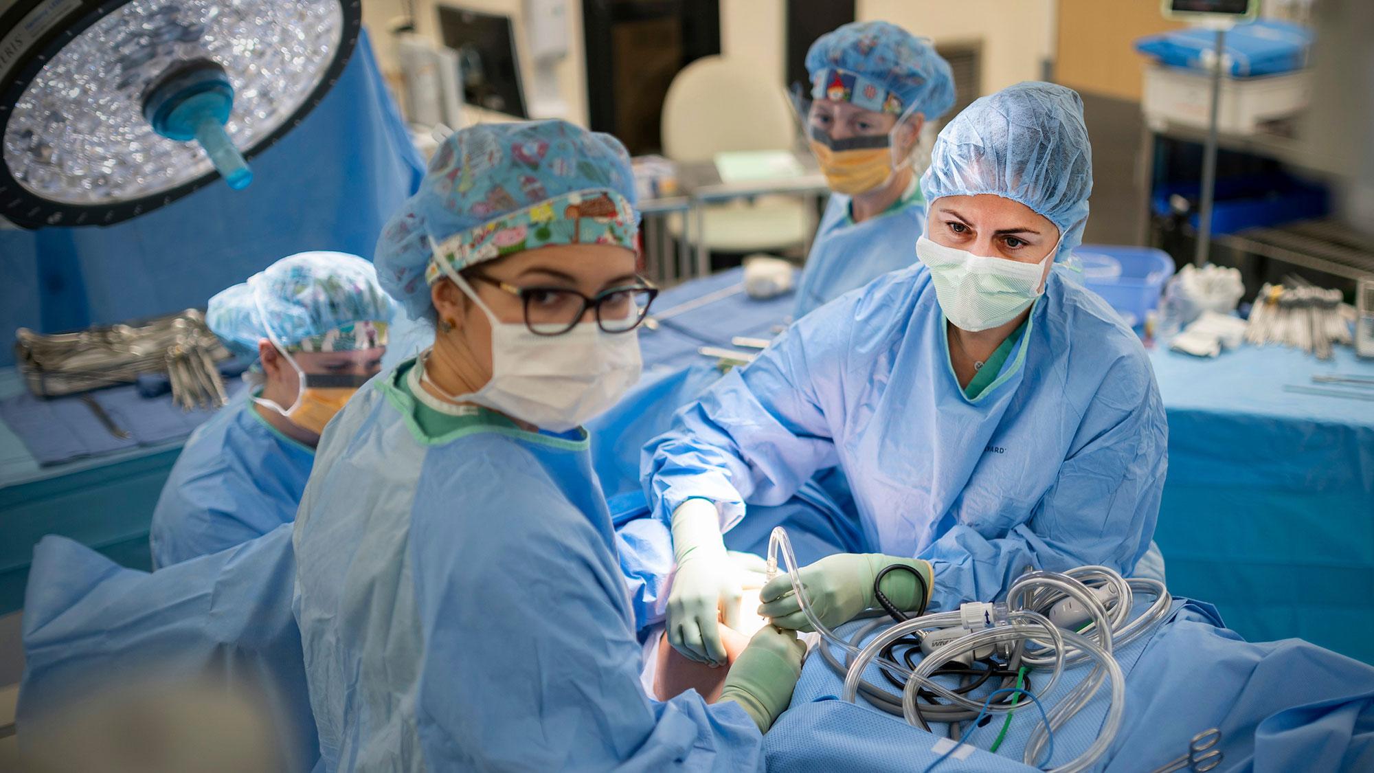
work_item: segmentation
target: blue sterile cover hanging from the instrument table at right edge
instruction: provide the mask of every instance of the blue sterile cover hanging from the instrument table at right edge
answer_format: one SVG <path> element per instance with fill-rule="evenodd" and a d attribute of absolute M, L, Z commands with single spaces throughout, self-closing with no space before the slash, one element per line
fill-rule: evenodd
<path fill-rule="evenodd" d="M 1150 359 L 1169 415 L 1154 534 L 1169 589 L 1216 604 L 1248 640 L 1374 663 L 1374 402 L 1283 389 L 1341 389 L 1312 377 L 1374 378 L 1374 362 L 1249 345 L 1216 359 L 1161 345 Z"/>

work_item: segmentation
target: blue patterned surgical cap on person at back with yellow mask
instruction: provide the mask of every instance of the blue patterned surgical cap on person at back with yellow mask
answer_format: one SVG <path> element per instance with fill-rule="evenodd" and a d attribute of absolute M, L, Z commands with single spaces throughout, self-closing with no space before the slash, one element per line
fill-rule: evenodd
<path fill-rule="evenodd" d="M 874 113 L 919 111 L 933 121 L 954 107 L 949 63 L 930 41 L 888 22 L 853 22 L 818 37 L 807 74 L 812 98 Z"/>

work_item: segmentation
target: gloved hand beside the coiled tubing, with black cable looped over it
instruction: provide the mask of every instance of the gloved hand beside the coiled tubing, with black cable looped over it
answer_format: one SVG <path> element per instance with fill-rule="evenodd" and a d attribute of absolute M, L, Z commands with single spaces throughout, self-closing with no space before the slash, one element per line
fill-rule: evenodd
<path fill-rule="evenodd" d="M 929 593 L 932 583 L 930 564 L 919 558 L 899 558 L 896 556 L 882 556 L 881 553 L 840 553 L 802 567 L 801 583 L 811 598 L 812 611 L 820 618 L 827 629 L 855 619 L 859 612 L 870 607 L 877 607 L 872 594 L 872 583 L 878 572 L 890 564 L 912 567 L 926 580 L 925 590 Z M 882 578 L 882 594 L 897 609 L 919 609 L 926 594 L 911 572 L 892 571 Z M 758 613 L 771 618 L 779 629 L 793 629 L 798 631 L 812 630 L 807 615 L 801 611 L 801 602 L 791 589 L 791 578 L 786 574 L 778 575 L 758 593 L 763 605 Z"/>

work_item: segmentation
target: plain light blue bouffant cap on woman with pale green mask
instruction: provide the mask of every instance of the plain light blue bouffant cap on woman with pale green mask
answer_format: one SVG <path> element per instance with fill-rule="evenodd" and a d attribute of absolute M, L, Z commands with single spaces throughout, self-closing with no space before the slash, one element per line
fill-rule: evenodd
<path fill-rule="evenodd" d="M 984 96 L 936 139 L 921 177 L 925 199 L 993 194 L 1054 223 L 1059 256 L 1083 241 L 1092 194 L 1092 147 L 1083 100 L 1062 85 L 1020 83 Z"/>

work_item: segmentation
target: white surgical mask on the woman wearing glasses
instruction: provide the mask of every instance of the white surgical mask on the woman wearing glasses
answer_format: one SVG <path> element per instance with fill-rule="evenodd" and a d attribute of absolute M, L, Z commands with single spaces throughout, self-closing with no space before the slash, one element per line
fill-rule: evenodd
<path fill-rule="evenodd" d="M 614 406 L 639 381 L 636 331 L 606 333 L 595 322 L 578 322 L 562 336 L 537 336 L 523 322 L 496 319 L 462 276 L 445 274 L 491 320 L 492 378 L 470 395 L 449 395 L 422 374 L 444 399 L 567 432 Z"/>

